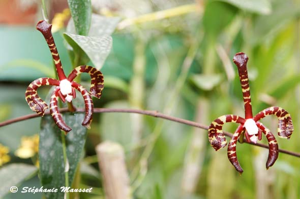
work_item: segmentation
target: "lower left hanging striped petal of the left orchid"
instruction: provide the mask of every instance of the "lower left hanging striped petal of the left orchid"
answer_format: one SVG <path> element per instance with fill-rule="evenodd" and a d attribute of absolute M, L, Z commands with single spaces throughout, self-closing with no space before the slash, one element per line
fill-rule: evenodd
<path fill-rule="evenodd" d="M 66 125 L 66 123 L 63 120 L 62 114 L 59 112 L 57 106 L 58 92 L 59 92 L 59 87 L 56 87 L 50 98 L 50 113 L 57 127 L 65 131 L 67 134 L 72 129 L 68 125 Z"/>

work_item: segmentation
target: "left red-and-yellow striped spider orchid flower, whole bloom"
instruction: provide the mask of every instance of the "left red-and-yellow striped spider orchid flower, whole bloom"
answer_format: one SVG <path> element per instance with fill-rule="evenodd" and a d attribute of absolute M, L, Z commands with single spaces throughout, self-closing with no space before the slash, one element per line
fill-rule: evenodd
<path fill-rule="evenodd" d="M 104 87 L 103 74 L 92 66 L 82 65 L 76 67 L 67 77 L 63 70 L 61 59 L 59 59 L 59 55 L 51 33 L 51 27 L 52 25 L 48 24 L 46 21 L 39 21 L 37 24 L 37 29 L 44 35 L 50 52 L 52 54 L 58 79 L 50 77 L 42 77 L 36 79 L 27 87 L 25 92 L 25 99 L 29 107 L 33 111 L 43 116 L 45 110 L 48 108 L 48 105 L 39 97 L 37 89 L 44 85 L 55 86 L 55 89 L 50 99 L 50 113 L 58 128 L 65 131 L 67 134 L 72 129 L 68 125 L 66 125 L 61 113 L 59 112 L 57 106 L 57 99 L 61 98 L 63 102 L 71 102 L 74 98 L 76 98 L 75 90 L 77 90 L 81 93 L 85 104 L 85 117 L 82 122 L 82 126 L 85 126 L 89 129 L 94 112 L 92 96 L 97 98 L 101 97 L 101 93 Z M 91 76 L 91 88 L 89 92 L 86 89 L 84 89 L 80 84 L 73 81 L 73 79 L 77 75 L 83 72 L 89 73 L 89 75 Z"/>

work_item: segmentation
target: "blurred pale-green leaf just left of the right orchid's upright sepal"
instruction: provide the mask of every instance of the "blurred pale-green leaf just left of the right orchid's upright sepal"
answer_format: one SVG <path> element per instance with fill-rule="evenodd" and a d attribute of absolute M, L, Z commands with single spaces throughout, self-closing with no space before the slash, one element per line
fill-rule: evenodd
<path fill-rule="evenodd" d="M 220 74 L 195 74 L 191 77 L 191 80 L 198 88 L 211 91 L 215 86 L 221 83 L 222 76 Z"/>

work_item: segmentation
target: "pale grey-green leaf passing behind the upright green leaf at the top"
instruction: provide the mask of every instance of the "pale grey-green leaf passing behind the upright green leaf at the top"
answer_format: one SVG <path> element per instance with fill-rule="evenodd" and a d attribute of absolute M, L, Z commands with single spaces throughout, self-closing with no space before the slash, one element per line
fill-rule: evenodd
<path fill-rule="evenodd" d="M 87 36 L 111 35 L 119 21 L 119 17 L 103 17 L 92 14 L 91 28 L 89 28 Z M 70 19 L 66 32 L 76 34 L 73 19 Z"/>

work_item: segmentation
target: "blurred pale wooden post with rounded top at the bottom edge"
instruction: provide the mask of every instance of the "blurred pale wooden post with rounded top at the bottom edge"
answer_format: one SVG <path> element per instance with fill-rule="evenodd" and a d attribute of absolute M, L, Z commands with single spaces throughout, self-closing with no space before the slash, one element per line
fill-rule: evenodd
<path fill-rule="evenodd" d="M 99 167 L 107 199 L 131 199 L 124 149 L 118 143 L 105 141 L 96 146 Z"/>

